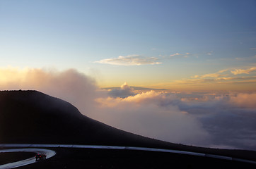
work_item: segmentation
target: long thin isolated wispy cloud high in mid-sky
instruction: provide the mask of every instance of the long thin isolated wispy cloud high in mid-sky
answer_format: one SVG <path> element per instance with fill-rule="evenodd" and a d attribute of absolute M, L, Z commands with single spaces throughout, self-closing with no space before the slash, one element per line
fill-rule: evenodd
<path fill-rule="evenodd" d="M 140 55 L 118 56 L 117 58 L 105 58 L 95 63 L 104 63 L 110 65 L 158 65 L 161 62 L 156 57 L 145 57 Z"/>

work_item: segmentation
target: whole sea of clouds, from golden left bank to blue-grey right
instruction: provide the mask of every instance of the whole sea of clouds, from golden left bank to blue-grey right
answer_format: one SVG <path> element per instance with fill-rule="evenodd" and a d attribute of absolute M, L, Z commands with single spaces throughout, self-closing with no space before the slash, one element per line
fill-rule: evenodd
<path fill-rule="evenodd" d="M 168 142 L 256 150 L 255 92 L 100 89 L 77 70 L 0 69 L 0 89 L 36 89 L 107 125 Z"/>

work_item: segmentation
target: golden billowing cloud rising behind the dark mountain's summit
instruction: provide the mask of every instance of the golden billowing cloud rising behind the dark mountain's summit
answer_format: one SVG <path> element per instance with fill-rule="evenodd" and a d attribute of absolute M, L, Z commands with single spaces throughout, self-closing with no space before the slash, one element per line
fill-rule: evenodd
<path fill-rule="evenodd" d="M 38 68 L 0 69 L 0 89 L 35 89 L 69 101 L 75 106 L 89 108 L 95 104 L 98 87 L 91 77 L 74 69 L 58 71 Z"/>

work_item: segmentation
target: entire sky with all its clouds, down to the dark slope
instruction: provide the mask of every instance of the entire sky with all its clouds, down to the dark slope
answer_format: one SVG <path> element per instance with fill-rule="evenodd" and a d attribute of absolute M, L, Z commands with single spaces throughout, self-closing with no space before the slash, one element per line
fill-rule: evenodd
<path fill-rule="evenodd" d="M 256 151 L 255 84 L 256 1 L 0 1 L 0 90 L 128 132 Z"/>

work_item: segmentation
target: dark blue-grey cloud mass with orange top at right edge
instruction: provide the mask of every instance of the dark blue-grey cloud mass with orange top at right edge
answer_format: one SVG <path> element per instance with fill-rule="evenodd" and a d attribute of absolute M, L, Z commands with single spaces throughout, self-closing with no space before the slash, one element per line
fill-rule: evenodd
<path fill-rule="evenodd" d="M 178 105 L 181 111 L 199 117 L 215 147 L 256 150 L 255 100 L 255 92 L 217 92 L 214 95 L 203 94 L 198 100 L 187 99 Z"/>

